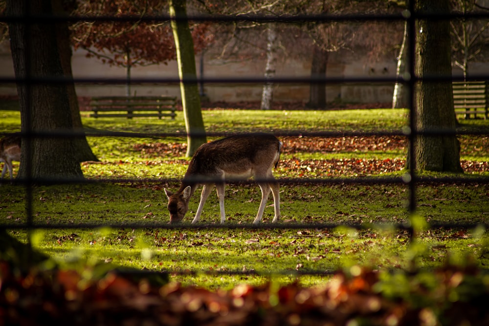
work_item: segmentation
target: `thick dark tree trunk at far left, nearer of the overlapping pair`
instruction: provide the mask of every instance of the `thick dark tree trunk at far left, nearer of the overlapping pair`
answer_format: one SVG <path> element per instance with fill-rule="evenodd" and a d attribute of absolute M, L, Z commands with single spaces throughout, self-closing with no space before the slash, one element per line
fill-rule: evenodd
<path fill-rule="evenodd" d="M 51 0 L 8 0 L 7 13 L 17 17 L 34 14 L 49 17 L 52 16 Z M 27 135 L 22 139 L 18 176 L 49 180 L 83 177 L 72 137 L 32 135 L 71 133 L 73 128 L 67 87 L 30 82 L 33 77 L 64 76 L 55 25 L 20 19 L 9 23 L 9 34 L 15 76 L 20 81 L 17 91 L 21 129 Z"/>

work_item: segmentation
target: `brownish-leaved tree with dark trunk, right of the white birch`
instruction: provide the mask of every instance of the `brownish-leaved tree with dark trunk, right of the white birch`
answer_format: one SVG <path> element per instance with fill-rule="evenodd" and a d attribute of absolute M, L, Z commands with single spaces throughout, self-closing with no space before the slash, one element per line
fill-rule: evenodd
<path fill-rule="evenodd" d="M 324 17 L 345 14 L 379 14 L 389 9 L 382 1 L 358 0 L 310 0 L 302 1 L 304 14 L 324 15 Z M 392 9 L 390 10 L 392 11 Z M 326 107 L 325 83 L 328 60 L 332 53 L 351 52 L 361 57 L 367 64 L 378 58 L 391 55 L 395 40 L 399 34 L 399 24 L 390 22 L 334 21 L 324 19 L 305 24 L 314 47 L 312 50 L 311 91 L 307 106 L 310 108 Z M 389 33 L 385 33 L 388 29 Z"/>

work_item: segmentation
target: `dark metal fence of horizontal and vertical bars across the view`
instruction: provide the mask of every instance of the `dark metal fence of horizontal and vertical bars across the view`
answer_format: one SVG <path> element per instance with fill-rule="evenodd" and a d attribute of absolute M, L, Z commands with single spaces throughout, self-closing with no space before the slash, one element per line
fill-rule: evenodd
<path fill-rule="evenodd" d="M 414 1 L 410 1 L 411 3 Z M 426 130 L 426 131 L 420 131 L 416 129 L 416 115 L 413 114 L 414 112 L 414 95 L 412 90 L 415 87 L 415 84 L 420 81 L 420 78 L 416 76 L 414 72 L 414 48 L 415 48 L 415 35 L 416 35 L 416 30 L 415 30 L 415 21 L 417 19 L 488 19 L 489 14 L 451 14 L 449 16 L 444 16 L 444 15 L 431 15 L 431 16 L 426 16 L 426 15 L 421 15 L 417 14 L 414 10 L 414 8 L 411 7 L 406 9 L 402 14 L 386 14 L 386 15 L 358 15 L 358 14 L 351 14 L 351 15 L 329 15 L 329 14 L 321 14 L 321 15 L 301 15 L 301 16 L 281 16 L 281 17 L 276 17 L 276 16 L 253 16 L 253 15 L 241 15 L 241 16 L 215 16 L 215 17 L 209 17 L 209 16 L 193 16 L 190 17 L 191 20 L 193 21 L 200 21 L 200 22 L 238 22 L 238 21 L 249 21 L 249 22 L 281 22 L 281 23 L 303 23 L 303 22 L 365 22 L 365 21 L 386 21 L 386 22 L 398 22 L 398 21 L 406 21 L 408 23 L 409 29 L 408 29 L 408 34 L 409 34 L 409 43 L 410 43 L 410 49 L 411 52 L 409 53 L 409 67 L 410 67 L 410 78 L 364 78 L 364 77 L 344 77 L 344 78 L 332 78 L 332 77 L 326 77 L 326 78 L 273 78 L 271 80 L 274 84 L 287 84 L 287 83 L 304 83 L 304 84 L 309 84 L 311 82 L 317 82 L 317 83 L 326 83 L 326 84 L 337 84 L 337 83 L 351 83 L 351 82 L 356 82 L 356 83 L 402 83 L 406 87 L 408 87 L 411 90 L 411 97 L 410 97 L 410 104 L 409 104 L 409 130 L 403 132 L 403 131 L 323 131 L 323 132 L 305 132 L 304 130 L 297 130 L 296 132 L 275 132 L 274 134 L 276 136 L 302 136 L 302 137 L 343 137 L 343 136 L 403 136 L 406 137 L 409 140 L 409 157 L 412 159 L 415 156 L 415 139 L 420 136 L 420 135 L 453 135 L 453 131 L 446 131 L 446 130 Z M 161 16 L 161 17 L 143 17 L 142 19 L 138 18 L 137 21 L 167 21 L 169 17 L 167 16 Z M 3 17 L 2 21 L 3 22 L 25 22 L 25 23 L 30 23 L 28 22 L 34 21 L 39 21 L 39 22 L 77 22 L 77 21 L 99 21 L 99 22 L 106 22 L 106 21 L 136 21 L 133 17 L 42 17 L 42 16 L 35 16 L 31 15 L 28 17 Z M 485 76 L 485 79 L 489 79 L 489 76 Z M 480 79 L 480 76 L 478 76 L 478 79 Z M 426 79 L 425 79 L 426 80 Z M 437 76 L 431 76 L 428 78 L 430 81 L 436 81 L 436 82 L 442 82 L 445 81 L 444 78 L 437 77 Z M 453 78 L 452 80 L 458 80 L 458 78 Z M 468 78 L 470 80 L 470 78 Z M 139 83 L 139 84 L 145 84 L 145 83 L 178 83 L 179 79 L 174 78 L 174 79 L 158 79 L 158 78 L 151 78 L 151 79 L 138 79 L 134 78 L 131 80 L 132 83 Z M 53 78 L 52 76 L 43 76 L 43 77 L 29 77 L 24 80 L 12 80 L 8 78 L 3 78 L 0 80 L 0 85 L 1 84 L 6 84 L 6 83 L 13 83 L 13 82 L 20 82 L 20 83 L 26 83 L 27 85 L 30 84 L 36 84 L 36 83 L 54 83 L 54 84 L 59 84 L 59 83 L 64 83 L 66 80 L 64 79 L 59 79 L 59 78 Z M 104 84 L 125 84 L 127 82 L 126 79 L 115 79 L 115 78 L 103 78 L 103 79 L 96 79 L 96 78 L 80 78 L 80 79 L 75 79 L 74 81 L 76 84 L 84 84 L 84 83 L 104 83 Z M 253 78 L 187 78 L 184 79 L 184 82 L 186 83 L 199 83 L 201 85 L 205 85 L 205 83 L 248 83 L 248 84 L 260 84 L 263 85 L 266 82 L 270 82 L 269 79 L 262 78 L 262 77 L 253 77 Z M 230 133 L 216 133 L 216 132 L 208 132 L 207 136 L 227 136 Z M 457 135 L 459 134 L 465 134 L 465 135 L 489 135 L 488 130 L 479 130 L 479 131 L 462 131 L 462 132 L 457 132 Z M 76 137 L 76 136 L 83 136 L 85 135 L 84 133 L 29 133 L 29 134 L 22 134 L 24 137 Z M 90 137 L 102 137 L 102 136 L 117 136 L 117 137 L 153 137 L 153 138 L 164 138 L 164 137 L 186 137 L 186 135 L 182 135 L 182 133 L 146 133 L 146 132 L 139 132 L 139 133 L 132 133 L 132 132 L 111 132 L 111 131 L 105 131 L 105 132 L 96 132 L 96 133 L 90 133 Z M 485 149 L 488 150 L 488 149 Z M 146 183 L 146 182 L 151 182 L 151 183 L 163 183 L 163 182 L 178 182 L 179 178 L 172 178 L 172 179 L 162 179 L 162 178 L 128 178 L 128 179 L 84 179 L 84 180 L 56 180 L 56 181 L 51 181 L 51 180 L 17 180 L 14 181 L 15 183 L 22 184 L 25 189 L 26 189 L 26 196 L 27 196 L 27 205 L 26 205 L 26 216 L 27 220 L 25 223 L 21 224 L 2 224 L 0 225 L 0 228 L 3 229 L 37 229 L 37 228 L 42 228 L 42 229 L 76 229 L 76 228 L 99 228 L 101 226 L 108 226 L 111 228 L 161 228 L 161 229 L 195 229 L 195 228 L 207 228 L 207 229 L 246 229 L 246 228 L 253 228 L 253 229 L 331 229 L 335 228 L 337 226 L 345 225 L 351 228 L 355 229 L 364 229 L 364 228 L 371 228 L 371 224 L 357 224 L 357 223 L 352 223 L 352 224 L 336 224 L 336 223 L 279 223 L 279 224 L 270 224 L 270 223 L 265 223 L 261 225 L 251 225 L 251 224 L 233 224 L 233 223 L 228 223 L 225 225 L 214 225 L 214 224 L 201 224 L 201 225 L 169 225 L 167 224 L 166 221 L 161 221 L 161 222 L 156 222 L 156 223 L 125 223 L 123 225 L 118 224 L 118 223 L 83 223 L 83 224 L 72 224 L 72 223 L 67 223 L 67 224 L 58 224 L 58 223 L 49 223 L 49 224 L 37 224 L 34 223 L 33 221 L 33 207 L 32 207 L 32 201 L 33 201 L 33 192 L 32 192 L 32 184 L 31 181 L 36 181 L 38 183 L 43 183 L 43 184 L 50 184 L 50 183 L 100 183 L 100 182 L 106 182 L 106 183 Z M 260 180 L 255 180 L 260 181 Z M 390 184 L 402 184 L 406 185 L 409 189 L 408 192 L 408 201 L 409 205 L 406 208 L 409 213 L 414 213 L 417 210 L 417 188 L 419 187 L 420 183 L 423 184 L 443 184 L 443 183 L 463 183 L 463 184 L 470 184 L 470 183 L 477 183 L 477 184 L 482 184 L 487 186 L 489 183 L 489 178 L 488 177 L 471 177 L 471 178 L 466 178 L 466 177 L 459 177 L 459 176 L 451 176 L 451 177 L 442 177 L 442 178 L 433 178 L 433 177 L 420 177 L 417 174 L 417 171 L 414 169 L 414 164 L 410 164 L 410 170 L 407 171 L 407 173 L 402 176 L 402 177 L 348 177 L 348 178 L 339 178 L 339 177 L 332 177 L 332 178 L 297 178 L 297 179 L 292 179 L 292 178 L 282 178 L 278 179 L 279 183 L 281 185 L 297 185 L 297 184 L 320 184 L 320 185 L 331 185 L 331 184 L 385 184 L 385 185 L 390 185 Z M 247 183 L 250 183 L 249 181 Z M 394 227 L 399 230 L 406 230 L 412 234 L 413 232 L 413 227 L 409 224 L 389 224 L 391 227 Z M 474 228 L 476 226 L 480 225 L 480 223 L 439 223 L 439 224 L 431 224 L 431 228 L 440 228 L 440 227 L 445 227 L 445 228 L 462 228 L 462 229 L 467 229 L 467 228 Z M 486 228 L 489 226 L 489 224 L 484 225 Z M 168 271 L 170 273 L 179 273 L 179 271 Z M 208 271 L 186 271 L 185 273 L 206 273 Z M 277 274 L 280 273 L 289 273 L 289 272 L 280 272 L 278 271 Z M 303 274 L 313 274 L 313 275 L 322 275 L 328 273 L 328 271 L 312 271 L 312 272 L 304 272 Z M 243 272 L 236 272 L 236 271 L 214 271 L 212 274 L 220 275 L 220 274 L 254 274 L 254 272 L 250 271 L 243 271 Z M 297 272 L 294 272 L 294 274 L 298 274 Z M 299 273 L 300 274 L 300 273 Z"/>

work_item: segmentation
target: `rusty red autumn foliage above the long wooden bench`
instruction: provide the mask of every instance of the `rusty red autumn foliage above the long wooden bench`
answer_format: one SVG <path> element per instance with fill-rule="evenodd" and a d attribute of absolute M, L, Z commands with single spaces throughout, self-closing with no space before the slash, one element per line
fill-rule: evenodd
<path fill-rule="evenodd" d="M 83 1 L 77 15 L 105 17 L 107 20 L 73 25 L 74 47 L 88 50 L 88 56 L 95 56 L 109 65 L 166 64 L 176 58 L 170 22 L 137 21 L 144 16 L 168 13 L 163 4 L 158 0 Z M 111 18 L 118 20 L 111 21 Z M 123 21 L 123 18 L 135 21 Z M 212 41 L 206 24 L 194 25 L 192 36 L 196 52 Z"/>

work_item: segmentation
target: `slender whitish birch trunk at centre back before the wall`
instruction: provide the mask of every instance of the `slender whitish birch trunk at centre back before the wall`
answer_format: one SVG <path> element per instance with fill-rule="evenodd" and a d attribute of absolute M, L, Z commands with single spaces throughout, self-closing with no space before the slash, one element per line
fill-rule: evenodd
<path fill-rule="evenodd" d="M 277 64 L 277 31 L 275 23 L 267 24 L 267 64 L 265 65 L 265 79 L 275 77 L 275 66 Z M 262 91 L 262 110 L 271 109 L 273 101 L 273 83 L 266 82 Z"/>

